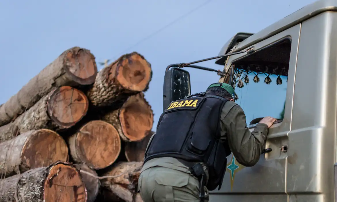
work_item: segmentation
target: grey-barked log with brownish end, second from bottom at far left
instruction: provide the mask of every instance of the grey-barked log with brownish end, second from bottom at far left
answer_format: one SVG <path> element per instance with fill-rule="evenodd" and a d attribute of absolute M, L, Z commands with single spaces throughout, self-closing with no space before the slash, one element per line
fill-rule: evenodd
<path fill-rule="evenodd" d="M 68 160 L 68 146 L 56 132 L 31 130 L 0 143 L 0 174 L 2 177 L 23 173 Z"/>

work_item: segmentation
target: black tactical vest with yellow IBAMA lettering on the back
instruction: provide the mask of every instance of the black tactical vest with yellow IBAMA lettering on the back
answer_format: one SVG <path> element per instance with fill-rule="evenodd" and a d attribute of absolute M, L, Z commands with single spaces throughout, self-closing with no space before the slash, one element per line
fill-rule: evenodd
<path fill-rule="evenodd" d="M 199 95 L 197 97 L 193 97 Z M 157 157 L 175 157 L 187 162 L 204 162 L 209 172 L 206 185 L 214 190 L 222 184 L 228 143 L 220 141 L 220 113 L 227 100 L 201 93 L 174 101 L 161 114 L 157 130 L 145 153 L 144 163 Z"/>

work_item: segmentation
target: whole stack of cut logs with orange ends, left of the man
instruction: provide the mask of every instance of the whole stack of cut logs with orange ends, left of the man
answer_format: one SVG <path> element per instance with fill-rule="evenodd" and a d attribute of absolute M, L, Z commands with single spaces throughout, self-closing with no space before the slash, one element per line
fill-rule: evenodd
<path fill-rule="evenodd" d="M 142 201 L 151 78 L 137 52 L 97 71 L 89 50 L 64 51 L 0 105 L 0 202 Z"/>

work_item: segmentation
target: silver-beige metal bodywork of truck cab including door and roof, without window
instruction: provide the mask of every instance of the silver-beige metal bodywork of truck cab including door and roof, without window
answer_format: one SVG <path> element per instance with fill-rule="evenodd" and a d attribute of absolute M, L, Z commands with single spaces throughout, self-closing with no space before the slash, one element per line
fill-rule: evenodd
<path fill-rule="evenodd" d="M 235 49 L 263 49 L 291 37 L 283 122 L 269 130 L 257 165 L 229 169 L 214 201 L 335 201 L 337 1 L 321 0 L 248 37 Z M 227 58 L 228 66 L 246 54 Z M 251 131 L 253 128 L 250 129 Z M 281 152 L 282 145 L 287 151 Z M 227 157 L 231 163 L 233 155 Z M 337 177 L 336 177 L 337 179 Z"/>

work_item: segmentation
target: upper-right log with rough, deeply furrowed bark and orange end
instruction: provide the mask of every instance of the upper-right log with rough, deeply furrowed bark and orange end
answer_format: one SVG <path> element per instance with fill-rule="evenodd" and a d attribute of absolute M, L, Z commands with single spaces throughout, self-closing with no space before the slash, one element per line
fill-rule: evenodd
<path fill-rule="evenodd" d="M 147 91 L 151 79 L 150 63 L 139 53 L 132 52 L 100 70 L 87 96 L 94 106 L 109 106 Z"/>

